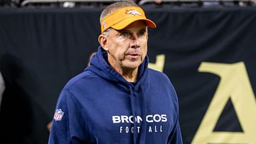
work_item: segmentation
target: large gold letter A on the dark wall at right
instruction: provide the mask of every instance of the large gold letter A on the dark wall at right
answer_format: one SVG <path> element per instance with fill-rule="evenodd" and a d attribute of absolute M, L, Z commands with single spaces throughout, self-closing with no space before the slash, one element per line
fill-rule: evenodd
<path fill-rule="evenodd" d="M 221 77 L 215 95 L 203 117 L 192 144 L 256 143 L 256 100 L 243 62 L 203 62 L 198 71 Z M 243 132 L 213 131 L 227 101 L 231 99 Z M 230 119 L 232 121 L 232 119 Z"/>

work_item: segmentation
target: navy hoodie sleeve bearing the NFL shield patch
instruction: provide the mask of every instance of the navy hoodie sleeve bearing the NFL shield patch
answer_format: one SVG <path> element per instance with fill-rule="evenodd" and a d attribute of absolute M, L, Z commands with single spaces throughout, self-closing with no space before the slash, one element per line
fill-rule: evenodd
<path fill-rule="evenodd" d="M 49 144 L 85 142 L 85 123 L 81 107 L 73 93 L 63 90 L 57 101 Z"/>

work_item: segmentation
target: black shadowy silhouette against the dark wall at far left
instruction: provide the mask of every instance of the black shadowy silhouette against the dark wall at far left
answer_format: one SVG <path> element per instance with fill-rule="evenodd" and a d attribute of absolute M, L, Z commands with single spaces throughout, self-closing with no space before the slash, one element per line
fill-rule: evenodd
<path fill-rule="evenodd" d="M 19 57 L 11 54 L 0 55 L 0 71 L 5 83 L 0 109 L 0 143 L 35 143 L 33 102 L 22 85 L 23 76 L 29 71 Z"/>

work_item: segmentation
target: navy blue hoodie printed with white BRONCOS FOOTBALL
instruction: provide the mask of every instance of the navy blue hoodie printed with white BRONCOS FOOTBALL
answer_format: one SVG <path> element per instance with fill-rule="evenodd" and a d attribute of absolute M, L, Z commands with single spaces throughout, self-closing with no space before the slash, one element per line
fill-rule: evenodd
<path fill-rule="evenodd" d="M 168 77 L 139 66 L 136 83 L 107 63 L 99 47 L 91 66 L 61 91 L 49 143 L 181 144 L 179 105 Z"/>

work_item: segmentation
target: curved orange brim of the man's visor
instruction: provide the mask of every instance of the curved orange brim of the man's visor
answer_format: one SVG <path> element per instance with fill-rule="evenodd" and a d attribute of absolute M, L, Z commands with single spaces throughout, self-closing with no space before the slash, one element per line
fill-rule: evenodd
<path fill-rule="evenodd" d="M 128 25 L 130 25 L 131 23 L 135 21 L 141 21 L 141 20 L 146 22 L 147 27 L 151 27 L 151 28 L 157 27 L 157 25 L 155 25 L 155 23 L 150 19 L 143 19 L 143 18 L 139 19 L 138 17 L 129 17 L 127 19 L 123 19 L 122 21 L 119 21 L 118 23 L 116 23 L 115 25 L 112 25 L 111 27 L 113 29 L 121 30 L 127 27 Z"/>

